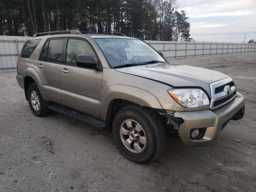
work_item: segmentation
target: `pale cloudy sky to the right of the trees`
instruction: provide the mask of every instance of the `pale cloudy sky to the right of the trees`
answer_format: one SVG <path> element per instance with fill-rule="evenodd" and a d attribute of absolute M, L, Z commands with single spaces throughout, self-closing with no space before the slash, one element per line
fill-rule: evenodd
<path fill-rule="evenodd" d="M 256 39 L 256 0 L 177 0 L 189 17 L 190 37 L 205 42 Z"/>

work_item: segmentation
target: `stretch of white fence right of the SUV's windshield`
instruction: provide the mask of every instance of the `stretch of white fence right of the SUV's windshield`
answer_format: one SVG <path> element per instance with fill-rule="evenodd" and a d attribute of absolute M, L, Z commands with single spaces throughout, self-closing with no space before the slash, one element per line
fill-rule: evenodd
<path fill-rule="evenodd" d="M 256 44 L 220 42 L 146 41 L 166 59 L 256 52 Z"/>

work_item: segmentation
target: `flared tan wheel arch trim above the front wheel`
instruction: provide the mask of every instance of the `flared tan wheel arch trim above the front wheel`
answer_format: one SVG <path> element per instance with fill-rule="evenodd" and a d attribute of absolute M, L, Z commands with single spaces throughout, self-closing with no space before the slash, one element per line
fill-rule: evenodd
<path fill-rule="evenodd" d="M 115 84 L 110 86 L 102 96 L 100 116 L 104 122 L 106 122 L 108 106 L 114 99 L 128 100 L 140 106 L 162 109 L 159 101 L 150 92 L 133 86 Z"/>

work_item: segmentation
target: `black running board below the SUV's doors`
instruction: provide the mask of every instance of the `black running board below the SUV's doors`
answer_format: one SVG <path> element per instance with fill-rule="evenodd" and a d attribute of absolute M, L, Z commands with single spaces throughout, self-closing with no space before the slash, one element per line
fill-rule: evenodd
<path fill-rule="evenodd" d="M 84 121 L 86 123 L 90 123 L 90 124 L 92 124 L 94 126 L 97 126 L 97 127 L 105 128 L 105 126 L 106 126 L 104 122 L 102 122 L 102 121 L 100 121 L 100 120 L 98 120 L 94 117 L 85 115 L 81 112 L 72 110 L 72 109 L 70 109 L 68 107 L 65 107 L 65 106 L 62 106 L 62 105 L 51 103 L 49 106 L 47 106 L 47 108 L 50 109 L 50 110 L 53 110 L 55 112 L 64 114 L 64 115 L 74 117 L 74 118 L 79 119 L 81 121 Z"/>

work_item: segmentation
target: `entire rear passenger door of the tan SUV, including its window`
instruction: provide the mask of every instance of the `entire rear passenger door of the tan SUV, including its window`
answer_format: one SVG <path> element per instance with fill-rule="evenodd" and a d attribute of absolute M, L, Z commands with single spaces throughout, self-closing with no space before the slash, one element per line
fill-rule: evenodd
<path fill-rule="evenodd" d="M 65 38 L 50 38 L 44 44 L 37 63 L 45 100 L 60 103 L 60 63 Z"/>

